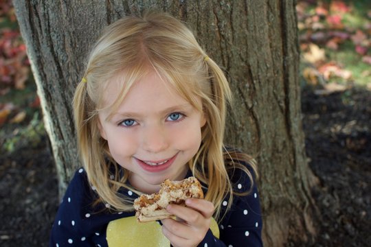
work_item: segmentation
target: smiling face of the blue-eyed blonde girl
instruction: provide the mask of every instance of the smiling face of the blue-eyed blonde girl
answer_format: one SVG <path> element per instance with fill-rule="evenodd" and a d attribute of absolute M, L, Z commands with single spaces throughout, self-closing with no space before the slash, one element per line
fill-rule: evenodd
<path fill-rule="evenodd" d="M 111 82 L 104 103 L 116 98 L 117 83 Z M 187 163 L 201 145 L 206 120 L 157 73 L 136 82 L 111 119 L 107 119 L 109 114 L 109 110 L 99 114 L 100 134 L 115 161 L 131 172 L 133 187 L 154 193 L 166 178 L 186 176 Z"/>

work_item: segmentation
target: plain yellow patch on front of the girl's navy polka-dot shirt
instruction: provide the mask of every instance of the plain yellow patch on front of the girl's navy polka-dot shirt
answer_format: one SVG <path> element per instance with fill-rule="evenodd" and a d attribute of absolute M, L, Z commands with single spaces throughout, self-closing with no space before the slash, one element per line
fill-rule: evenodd
<path fill-rule="evenodd" d="M 219 228 L 214 218 L 212 218 L 210 229 L 214 236 L 219 238 Z M 135 216 L 109 222 L 106 237 L 109 247 L 170 246 L 158 222 L 139 223 Z"/>

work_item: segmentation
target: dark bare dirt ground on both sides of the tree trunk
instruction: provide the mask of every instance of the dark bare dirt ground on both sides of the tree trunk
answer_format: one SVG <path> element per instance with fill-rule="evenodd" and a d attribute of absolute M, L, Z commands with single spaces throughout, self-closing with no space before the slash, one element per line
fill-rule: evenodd
<path fill-rule="evenodd" d="M 319 234 L 310 246 L 370 246 L 371 92 L 307 91 L 302 109 L 306 152 L 320 181 L 313 191 Z M 0 246 L 47 246 L 57 193 L 46 137 L 36 148 L 1 154 Z"/>

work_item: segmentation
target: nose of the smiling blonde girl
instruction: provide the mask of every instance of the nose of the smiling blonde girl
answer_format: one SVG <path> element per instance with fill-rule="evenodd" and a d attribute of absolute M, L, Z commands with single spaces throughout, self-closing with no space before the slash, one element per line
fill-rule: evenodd
<path fill-rule="evenodd" d="M 147 126 L 142 136 L 142 147 L 146 152 L 159 153 L 168 148 L 168 135 L 162 126 Z"/>

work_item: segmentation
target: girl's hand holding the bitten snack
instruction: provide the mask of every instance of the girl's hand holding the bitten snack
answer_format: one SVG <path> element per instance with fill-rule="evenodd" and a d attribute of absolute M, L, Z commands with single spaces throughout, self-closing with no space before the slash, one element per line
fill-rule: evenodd
<path fill-rule="evenodd" d="M 207 200 L 189 198 L 187 207 L 170 204 L 166 210 L 177 216 L 177 220 L 161 220 L 162 233 L 174 247 L 194 247 L 204 238 L 210 228 L 214 204 Z"/>

